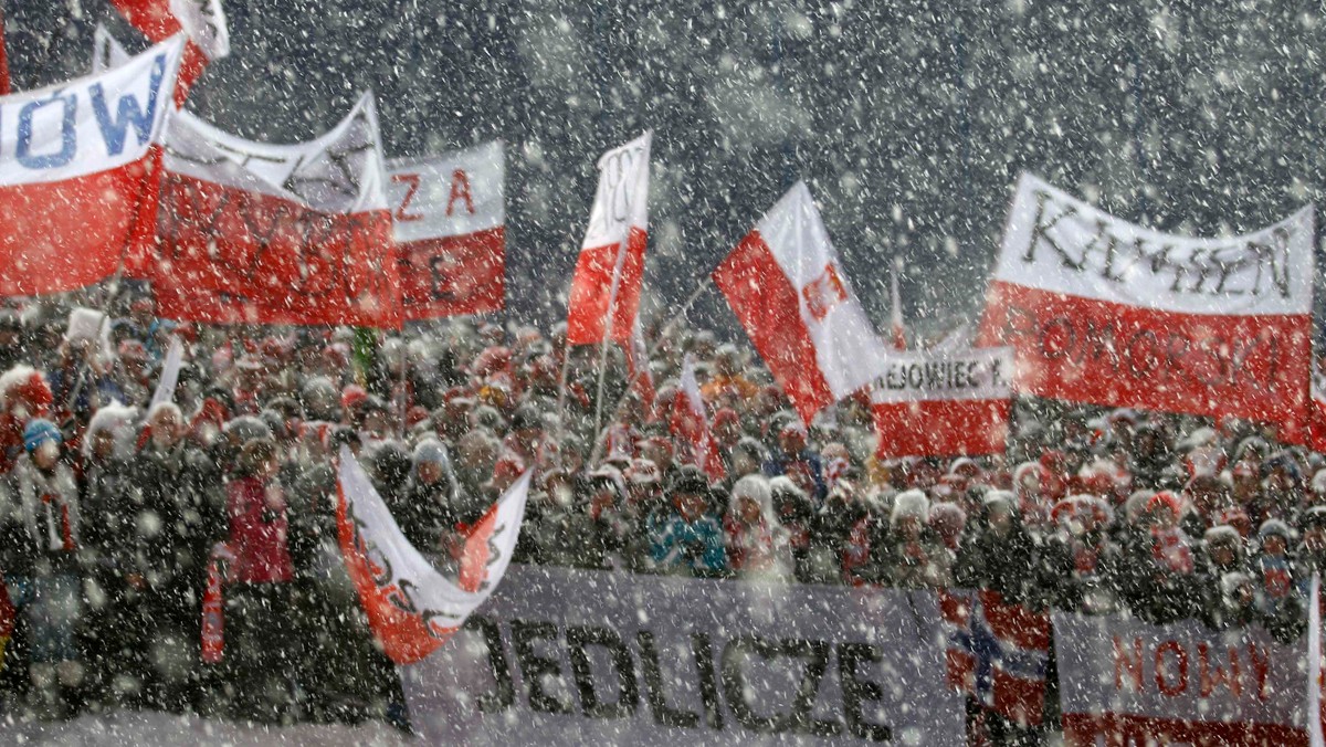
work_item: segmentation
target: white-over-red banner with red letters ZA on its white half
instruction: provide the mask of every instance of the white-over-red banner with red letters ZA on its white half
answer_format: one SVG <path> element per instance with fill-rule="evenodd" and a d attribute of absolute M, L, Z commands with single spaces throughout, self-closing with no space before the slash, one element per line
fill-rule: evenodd
<path fill-rule="evenodd" d="M 505 165 L 500 141 L 387 162 L 406 320 L 505 304 Z"/>

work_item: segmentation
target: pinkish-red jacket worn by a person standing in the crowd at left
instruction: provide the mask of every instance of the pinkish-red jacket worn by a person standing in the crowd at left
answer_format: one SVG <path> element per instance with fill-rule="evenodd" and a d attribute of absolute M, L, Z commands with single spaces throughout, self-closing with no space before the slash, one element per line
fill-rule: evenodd
<path fill-rule="evenodd" d="M 289 581 L 293 568 L 286 545 L 289 519 L 286 509 L 267 507 L 267 482 L 244 478 L 231 482 L 225 513 L 231 520 L 231 551 L 235 561 L 231 578 L 245 584 L 278 584 Z"/>

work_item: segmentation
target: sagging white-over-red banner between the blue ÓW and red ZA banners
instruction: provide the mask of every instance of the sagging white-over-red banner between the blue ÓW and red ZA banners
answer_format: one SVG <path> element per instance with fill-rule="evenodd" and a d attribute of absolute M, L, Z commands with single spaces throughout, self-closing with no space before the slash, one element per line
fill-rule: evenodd
<path fill-rule="evenodd" d="M 400 284 L 373 96 L 298 145 L 171 119 L 147 268 L 166 318 L 398 328 Z"/>

